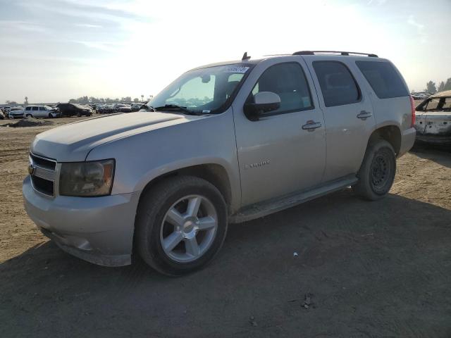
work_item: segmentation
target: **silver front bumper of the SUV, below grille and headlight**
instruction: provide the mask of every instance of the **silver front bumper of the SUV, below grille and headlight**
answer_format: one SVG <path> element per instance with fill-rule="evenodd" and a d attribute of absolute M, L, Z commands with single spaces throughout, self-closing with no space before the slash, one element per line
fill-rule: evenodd
<path fill-rule="evenodd" d="M 33 222 L 64 251 L 99 265 L 131 263 L 138 192 L 51 198 L 36 192 L 28 176 L 23 199 Z"/>

